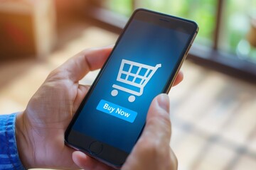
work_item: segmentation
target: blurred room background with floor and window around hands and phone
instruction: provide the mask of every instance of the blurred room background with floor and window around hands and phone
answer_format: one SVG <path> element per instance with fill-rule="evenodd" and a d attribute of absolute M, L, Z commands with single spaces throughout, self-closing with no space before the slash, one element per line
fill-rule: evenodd
<path fill-rule="evenodd" d="M 178 169 L 256 169 L 256 0 L 0 0 L 0 114 L 80 50 L 114 44 L 141 7 L 200 27 L 169 93 Z"/>

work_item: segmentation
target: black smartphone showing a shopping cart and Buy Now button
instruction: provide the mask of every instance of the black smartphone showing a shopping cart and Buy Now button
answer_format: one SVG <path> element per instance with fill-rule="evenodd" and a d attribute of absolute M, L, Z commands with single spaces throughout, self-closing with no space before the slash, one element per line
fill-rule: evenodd
<path fill-rule="evenodd" d="M 169 92 L 197 33 L 193 21 L 134 11 L 68 126 L 65 144 L 120 168 L 151 101 Z"/>

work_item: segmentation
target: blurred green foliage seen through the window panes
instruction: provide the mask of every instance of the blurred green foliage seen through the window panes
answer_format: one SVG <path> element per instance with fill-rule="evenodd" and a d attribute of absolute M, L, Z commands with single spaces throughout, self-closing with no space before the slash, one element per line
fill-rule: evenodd
<path fill-rule="evenodd" d="M 109 0 L 106 2 L 107 7 L 112 11 L 127 17 L 132 13 L 132 0 Z M 212 46 L 218 1 L 138 0 L 135 2 L 137 8 L 149 8 L 196 21 L 200 28 L 196 42 Z M 246 40 L 252 16 L 256 17 L 256 0 L 224 1 L 218 48 L 256 62 L 255 47 L 250 46 Z"/>

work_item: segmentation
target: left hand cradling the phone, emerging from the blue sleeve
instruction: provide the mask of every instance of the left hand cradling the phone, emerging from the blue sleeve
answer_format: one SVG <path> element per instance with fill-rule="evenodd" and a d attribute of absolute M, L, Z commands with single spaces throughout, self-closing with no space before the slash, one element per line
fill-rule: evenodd
<path fill-rule="evenodd" d="M 78 81 L 90 70 L 102 67 L 111 51 L 110 47 L 88 49 L 71 57 L 48 75 L 26 110 L 17 115 L 16 142 L 26 169 L 78 169 L 73 159 L 82 160 L 84 169 L 110 169 L 91 157 L 81 157 L 80 152 L 64 145 L 63 138 L 68 123 L 88 91 L 88 86 L 82 86 Z M 178 74 L 174 84 L 181 79 L 182 74 Z"/>

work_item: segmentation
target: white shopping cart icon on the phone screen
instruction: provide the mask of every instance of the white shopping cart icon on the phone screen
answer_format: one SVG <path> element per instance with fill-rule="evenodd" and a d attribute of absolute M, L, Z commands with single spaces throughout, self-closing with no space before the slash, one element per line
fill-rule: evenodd
<path fill-rule="evenodd" d="M 144 86 L 146 86 L 159 67 L 161 67 L 161 64 L 156 64 L 155 67 L 152 67 L 139 62 L 122 60 L 117 74 L 117 84 L 113 84 L 114 90 L 112 90 L 111 95 L 117 96 L 118 90 L 125 91 L 131 94 L 128 101 L 134 102 L 135 96 L 143 94 Z"/>

